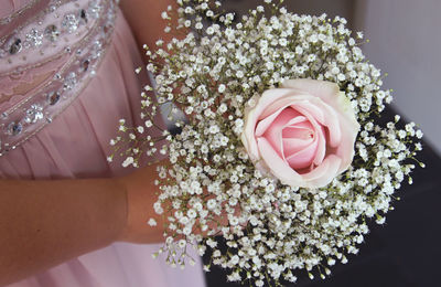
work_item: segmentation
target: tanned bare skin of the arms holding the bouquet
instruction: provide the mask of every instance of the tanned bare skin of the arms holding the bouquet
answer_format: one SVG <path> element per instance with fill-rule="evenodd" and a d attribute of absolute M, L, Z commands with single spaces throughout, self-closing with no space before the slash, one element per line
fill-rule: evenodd
<path fill-rule="evenodd" d="M 138 43 L 166 40 L 160 13 L 173 2 L 121 1 Z M 155 166 L 149 166 L 115 179 L 1 180 L 0 286 L 117 241 L 162 241 L 161 217 L 152 208 L 155 177 Z M 157 227 L 147 225 L 150 217 Z"/>

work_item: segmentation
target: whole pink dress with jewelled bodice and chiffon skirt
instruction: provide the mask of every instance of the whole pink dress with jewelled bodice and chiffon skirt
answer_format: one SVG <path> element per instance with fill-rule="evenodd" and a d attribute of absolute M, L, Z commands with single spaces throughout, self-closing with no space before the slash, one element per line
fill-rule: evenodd
<path fill-rule="evenodd" d="M 114 0 L 0 0 L 0 178 L 128 172 L 106 158 L 118 120 L 139 115 L 137 47 Z M 173 269 L 159 246 L 115 243 L 10 287 L 205 285 L 197 256 Z"/>

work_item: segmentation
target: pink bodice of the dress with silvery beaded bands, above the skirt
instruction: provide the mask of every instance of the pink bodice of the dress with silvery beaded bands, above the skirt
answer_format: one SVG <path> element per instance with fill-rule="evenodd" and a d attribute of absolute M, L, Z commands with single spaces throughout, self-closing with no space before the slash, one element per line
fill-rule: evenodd
<path fill-rule="evenodd" d="M 50 124 L 95 75 L 116 2 L 0 0 L 0 155 Z"/>

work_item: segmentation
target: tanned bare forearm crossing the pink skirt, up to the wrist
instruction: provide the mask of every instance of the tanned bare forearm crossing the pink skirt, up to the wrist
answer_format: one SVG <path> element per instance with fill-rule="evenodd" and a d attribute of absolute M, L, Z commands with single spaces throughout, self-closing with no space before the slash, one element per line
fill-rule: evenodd
<path fill-rule="evenodd" d="M 110 244 L 126 217 L 117 180 L 0 181 L 0 286 Z"/>

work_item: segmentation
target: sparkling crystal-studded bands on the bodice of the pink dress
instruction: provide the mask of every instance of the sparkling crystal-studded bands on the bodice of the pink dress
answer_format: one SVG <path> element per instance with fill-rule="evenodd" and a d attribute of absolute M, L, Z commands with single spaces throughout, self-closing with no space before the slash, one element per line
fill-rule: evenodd
<path fill-rule="evenodd" d="M 58 9 L 69 1 L 74 2 L 73 10 Z M 65 99 L 77 96 L 76 92 L 83 79 L 87 81 L 96 74 L 99 59 L 110 42 L 116 9 L 112 8 L 114 1 L 47 0 L 49 9 L 46 8 L 45 13 L 51 14 L 52 20 L 44 15 L 43 21 L 43 17 L 37 17 L 32 20 L 34 28 L 23 25 L 23 29 L 14 31 L 15 34 L 8 36 L 1 44 L 0 57 L 6 57 L 6 62 L 10 63 L 22 64 L 25 61 L 24 56 L 29 59 L 28 51 L 36 55 L 47 54 L 47 50 L 44 49 L 46 46 L 57 47 L 62 53 L 71 53 L 73 61 L 54 73 L 50 86 L 44 87 L 45 93 L 35 91 L 35 100 L 24 103 L 11 110 L 11 114 L 0 113 L 0 156 L 28 140 L 34 130 L 52 123 L 57 111 L 69 104 L 69 100 Z M 83 29 L 84 32 L 89 32 L 90 36 L 84 38 L 82 45 L 77 45 L 82 36 L 78 31 Z M 68 34 L 76 36 L 69 39 Z M 63 43 L 58 43 L 61 40 Z M 23 54 L 23 51 L 26 53 Z M 18 55 L 11 56 L 13 54 Z"/>

